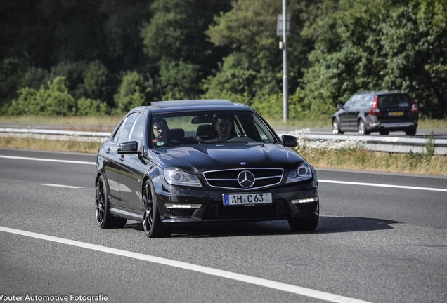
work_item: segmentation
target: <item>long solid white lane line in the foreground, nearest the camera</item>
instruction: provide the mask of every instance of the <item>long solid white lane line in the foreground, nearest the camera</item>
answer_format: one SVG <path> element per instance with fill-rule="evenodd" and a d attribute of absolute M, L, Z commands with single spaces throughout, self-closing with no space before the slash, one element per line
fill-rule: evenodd
<path fill-rule="evenodd" d="M 106 246 L 84 243 L 84 242 L 79 242 L 79 241 L 74 241 L 74 240 L 68 240 L 65 238 L 48 236 L 45 234 L 37 234 L 34 232 L 30 232 L 30 231 L 22 231 L 20 229 L 11 229 L 9 227 L 1 227 L 0 226 L 0 231 L 4 231 L 4 232 L 10 233 L 10 234 L 18 234 L 21 236 L 29 236 L 31 238 L 39 238 L 41 240 L 46 240 L 46 241 L 51 241 L 51 242 L 56 242 L 56 243 L 63 243 L 66 245 L 72 245 L 72 246 L 76 246 L 79 248 L 87 248 L 90 250 L 96 250 L 96 251 L 100 251 L 103 253 L 110 253 L 112 255 L 120 255 L 123 257 L 130 257 L 133 259 L 153 262 L 153 263 L 157 263 L 157 264 L 163 264 L 163 265 L 167 265 L 167 266 L 171 266 L 171 267 L 177 267 L 180 269 L 188 269 L 190 271 L 197 271 L 202 274 L 210 274 L 212 276 L 219 276 L 222 278 L 228 278 L 228 279 L 235 280 L 235 281 L 241 281 L 241 282 L 245 282 L 245 283 L 263 286 L 266 288 L 273 288 L 275 290 L 283 290 L 285 292 L 291 292 L 296 295 L 304 295 L 306 297 L 322 299 L 322 300 L 328 301 L 328 302 L 370 303 L 370 302 L 363 301 L 360 299 L 354 299 L 354 298 L 350 298 L 350 297 L 343 297 L 341 295 L 335 295 L 330 292 L 322 292 L 319 290 L 313 290 L 311 288 L 303 288 L 300 286 L 290 285 L 290 284 L 286 284 L 286 283 L 280 283 L 280 282 L 276 282 L 276 281 L 267 280 L 264 278 L 256 278 L 256 277 L 247 276 L 244 274 L 236 274 L 231 271 L 224 271 L 221 269 L 213 269 L 211 267 L 204 267 L 201 265 L 195 265 L 195 264 L 190 264 L 190 263 L 186 263 L 186 262 L 169 260 L 169 259 L 164 259 L 161 257 L 154 257 L 151 255 L 143 255 L 141 253 L 133 253 L 133 252 L 129 252 L 127 250 L 119 250 L 117 248 L 109 248 Z"/>

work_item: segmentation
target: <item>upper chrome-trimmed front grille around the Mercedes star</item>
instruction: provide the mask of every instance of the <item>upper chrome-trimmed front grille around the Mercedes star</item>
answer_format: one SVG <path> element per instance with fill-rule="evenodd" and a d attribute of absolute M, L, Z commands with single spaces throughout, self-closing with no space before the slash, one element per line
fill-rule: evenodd
<path fill-rule="evenodd" d="M 242 187 L 238 182 L 238 175 L 243 171 L 249 171 L 254 175 L 254 183 L 251 187 Z M 283 180 L 282 168 L 239 168 L 234 170 L 212 170 L 203 173 L 210 187 L 224 189 L 260 189 L 280 184 Z"/>

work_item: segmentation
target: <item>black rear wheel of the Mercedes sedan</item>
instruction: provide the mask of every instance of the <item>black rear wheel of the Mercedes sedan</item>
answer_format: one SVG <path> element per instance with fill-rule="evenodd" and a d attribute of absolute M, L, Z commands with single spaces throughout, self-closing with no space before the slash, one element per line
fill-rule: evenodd
<path fill-rule="evenodd" d="M 107 187 L 105 187 L 105 181 L 103 176 L 99 176 L 96 180 L 96 194 L 95 194 L 95 210 L 96 210 L 96 222 L 98 225 L 105 228 L 112 227 L 124 227 L 127 220 L 113 217 L 109 212 L 109 201 L 107 194 Z"/>

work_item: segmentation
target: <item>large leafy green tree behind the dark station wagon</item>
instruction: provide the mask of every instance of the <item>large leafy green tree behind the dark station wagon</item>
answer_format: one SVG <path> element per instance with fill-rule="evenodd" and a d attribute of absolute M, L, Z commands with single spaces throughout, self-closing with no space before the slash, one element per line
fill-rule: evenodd
<path fill-rule="evenodd" d="M 323 1 L 302 34 L 315 43 L 300 112 L 331 114 L 359 90 L 406 90 L 422 114 L 446 116 L 446 1 Z"/>

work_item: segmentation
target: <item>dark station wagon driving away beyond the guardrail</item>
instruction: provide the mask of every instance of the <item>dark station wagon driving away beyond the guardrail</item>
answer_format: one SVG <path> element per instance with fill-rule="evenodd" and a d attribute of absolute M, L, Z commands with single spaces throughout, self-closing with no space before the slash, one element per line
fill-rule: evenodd
<path fill-rule="evenodd" d="M 402 91 L 357 93 L 338 109 L 332 116 L 335 135 L 353 130 L 360 135 L 399 130 L 416 135 L 419 111 L 413 98 Z"/>

